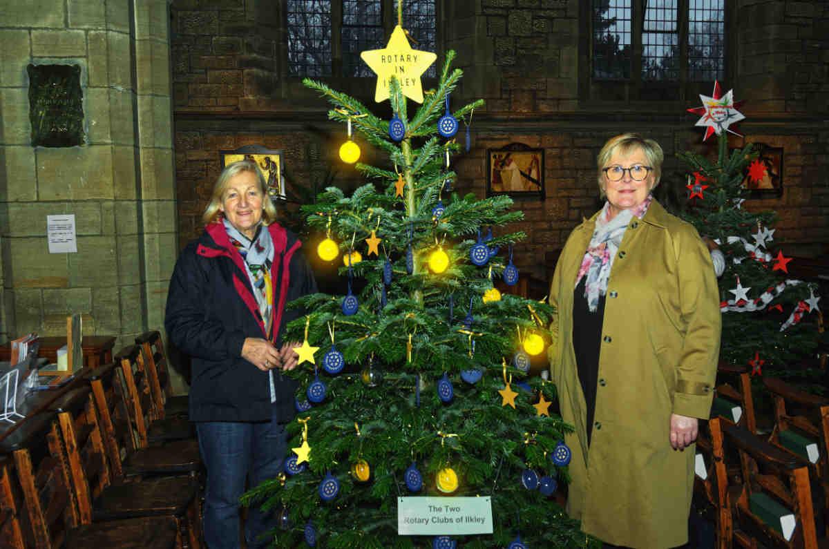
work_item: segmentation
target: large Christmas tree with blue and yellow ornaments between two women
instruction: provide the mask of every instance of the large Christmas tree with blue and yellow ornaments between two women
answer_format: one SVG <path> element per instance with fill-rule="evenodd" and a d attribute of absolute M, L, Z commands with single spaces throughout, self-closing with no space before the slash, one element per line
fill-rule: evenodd
<path fill-rule="evenodd" d="M 568 479 L 562 440 L 571 428 L 550 413 L 555 386 L 528 376 L 528 355 L 544 352 L 553 311 L 493 284 L 516 284 L 512 246 L 525 235 L 492 236 L 492 228 L 522 214 L 510 211 L 509 197 L 452 192 L 452 157 L 461 152 L 453 135 L 482 101 L 449 109 L 462 76 L 451 70 L 453 51 L 437 88 L 420 92 L 427 52 L 395 53 L 394 44 L 409 48 L 403 33 L 395 27 L 386 50 L 363 54 L 372 68 L 377 52 L 413 64 L 395 68 L 414 76 L 379 74 L 376 100 L 388 95 L 390 122 L 304 82 L 332 104 L 329 119 L 347 124 L 344 161 L 360 155 L 352 130 L 385 158 L 356 163 L 370 182 L 351 196 L 329 187 L 304 207 L 309 226 L 326 236 L 318 255 L 342 258 L 347 293 L 289 305 L 308 311 L 284 334 L 303 342 L 290 373 L 300 386 L 293 449 L 286 474 L 245 503 L 278 513 L 277 547 L 585 547 L 590 540 L 554 498 Z M 414 113 L 407 96 L 422 101 Z M 458 519 L 400 535 L 407 497 L 438 506 L 487 500 L 491 533 L 458 535 L 468 532 Z"/>

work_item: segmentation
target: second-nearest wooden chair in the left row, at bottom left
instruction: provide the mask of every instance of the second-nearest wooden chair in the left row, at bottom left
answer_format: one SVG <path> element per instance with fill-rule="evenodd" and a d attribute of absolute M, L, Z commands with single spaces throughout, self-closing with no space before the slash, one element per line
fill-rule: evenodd
<path fill-rule="evenodd" d="M 172 549 L 181 546 L 172 517 L 81 524 L 62 446 L 56 416 L 48 413 L 27 417 L 25 424 L 2 442 L 0 452 L 12 453 L 24 502 L 21 522 L 25 547 Z"/>

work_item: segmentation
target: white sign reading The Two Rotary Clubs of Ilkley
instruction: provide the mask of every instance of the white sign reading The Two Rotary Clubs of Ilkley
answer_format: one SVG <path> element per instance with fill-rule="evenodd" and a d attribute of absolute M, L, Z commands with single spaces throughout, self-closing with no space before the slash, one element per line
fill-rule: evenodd
<path fill-rule="evenodd" d="M 397 498 L 400 536 L 492 533 L 492 498 Z"/>

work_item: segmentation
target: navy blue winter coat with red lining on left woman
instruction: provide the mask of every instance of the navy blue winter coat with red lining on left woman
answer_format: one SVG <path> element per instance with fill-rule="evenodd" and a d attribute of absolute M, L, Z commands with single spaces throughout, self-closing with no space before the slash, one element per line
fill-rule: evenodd
<path fill-rule="evenodd" d="M 317 291 L 297 236 L 273 223 L 263 230 L 274 242 L 271 283 L 274 289 L 273 337 L 282 345 L 285 323 L 304 314 L 285 304 Z M 182 250 L 170 279 L 167 336 L 192 357 L 191 421 L 270 420 L 268 374 L 241 357 L 245 338 L 264 338 L 264 322 L 244 260 L 225 227 L 211 223 L 198 240 Z M 274 370 L 279 416 L 293 417 L 295 381 Z"/>

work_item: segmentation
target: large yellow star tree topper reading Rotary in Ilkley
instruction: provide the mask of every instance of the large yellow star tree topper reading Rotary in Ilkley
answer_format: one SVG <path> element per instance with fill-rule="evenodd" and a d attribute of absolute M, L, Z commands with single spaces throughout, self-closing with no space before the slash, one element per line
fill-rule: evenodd
<path fill-rule="evenodd" d="M 360 54 L 366 65 L 377 75 L 374 100 L 381 103 L 389 99 L 389 82 L 397 77 L 403 95 L 415 103 L 423 103 L 423 85 L 420 76 L 438 58 L 431 51 L 413 50 L 403 27 L 397 25 L 389 43 L 383 50 L 366 50 Z"/>

